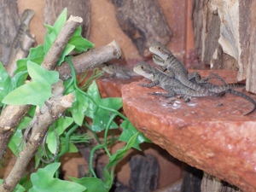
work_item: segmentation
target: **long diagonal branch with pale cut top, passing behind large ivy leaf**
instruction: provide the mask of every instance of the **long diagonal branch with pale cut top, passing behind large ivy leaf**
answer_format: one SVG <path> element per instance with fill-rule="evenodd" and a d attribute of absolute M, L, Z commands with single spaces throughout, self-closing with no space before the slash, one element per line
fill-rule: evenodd
<path fill-rule="evenodd" d="M 55 68 L 57 61 L 60 58 L 61 52 L 65 48 L 65 44 L 69 38 L 72 37 L 73 32 L 81 23 L 81 18 L 73 17 L 72 15 L 62 27 L 61 32 L 55 39 L 55 43 L 49 49 L 48 54 L 44 58 L 42 67 L 52 70 Z M 63 41 L 63 42 L 62 42 Z M 64 44 L 65 42 L 65 44 Z M 3 113 L 0 116 L 0 162 L 3 160 L 3 155 L 6 151 L 9 143 L 9 138 L 15 131 L 15 127 L 20 123 L 20 120 L 26 114 L 29 107 L 26 106 L 7 106 L 4 108 Z M 10 115 L 14 113 L 14 115 Z"/>

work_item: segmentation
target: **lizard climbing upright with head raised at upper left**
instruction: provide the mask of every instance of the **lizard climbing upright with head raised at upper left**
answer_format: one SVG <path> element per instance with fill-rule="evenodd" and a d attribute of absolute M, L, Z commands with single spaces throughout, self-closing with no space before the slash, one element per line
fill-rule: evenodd
<path fill-rule="evenodd" d="M 19 49 L 24 51 L 22 44 L 26 35 L 29 33 L 29 22 L 32 19 L 35 12 L 32 9 L 26 9 L 20 18 L 20 28 L 14 38 L 13 43 L 11 44 L 11 49 L 9 52 L 9 64 L 8 67 L 12 67 L 12 63 L 15 63 L 15 56 Z M 13 71 L 12 69 L 8 69 L 8 71 Z"/>

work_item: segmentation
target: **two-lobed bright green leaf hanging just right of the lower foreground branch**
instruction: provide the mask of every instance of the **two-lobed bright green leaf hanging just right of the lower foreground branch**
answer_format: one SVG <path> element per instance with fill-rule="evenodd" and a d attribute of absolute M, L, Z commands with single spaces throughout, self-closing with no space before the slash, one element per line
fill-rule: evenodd
<path fill-rule="evenodd" d="M 56 143 L 56 136 L 55 131 L 60 136 L 69 125 L 73 123 L 73 118 L 66 117 L 65 119 L 61 117 L 60 119 L 56 120 L 53 125 L 49 127 L 49 131 L 46 138 L 47 147 L 52 154 L 55 154 L 57 143 Z M 55 127 L 55 131 L 53 130 L 53 126 Z"/>

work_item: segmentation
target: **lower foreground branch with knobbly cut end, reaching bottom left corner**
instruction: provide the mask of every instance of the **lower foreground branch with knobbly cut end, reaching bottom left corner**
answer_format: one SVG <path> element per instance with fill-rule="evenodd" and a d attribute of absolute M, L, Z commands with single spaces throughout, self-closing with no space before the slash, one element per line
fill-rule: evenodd
<path fill-rule="evenodd" d="M 58 82 L 59 83 L 59 82 Z M 60 85 L 60 84 L 58 84 Z M 64 90 L 64 85 L 61 81 L 61 86 L 55 86 L 55 92 L 59 92 L 60 90 Z M 53 93 L 53 96 L 55 93 Z M 56 97 L 54 101 L 50 102 L 51 108 L 49 108 L 44 104 L 42 108 L 47 108 L 48 111 L 45 113 L 40 113 L 38 115 L 37 123 L 35 123 L 32 128 L 32 135 L 26 143 L 25 148 L 20 152 L 19 158 L 15 162 L 15 166 L 12 171 L 9 173 L 9 176 L 4 179 L 2 186 L 0 187 L 0 191 L 8 192 L 13 191 L 17 183 L 19 183 L 20 178 L 24 176 L 26 172 L 26 166 L 29 161 L 38 151 L 38 147 L 42 144 L 44 140 L 44 136 L 46 135 L 49 125 L 51 125 L 56 119 L 61 117 L 61 114 L 64 113 L 67 108 L 70 108 L 73 103 L 73 94 L 69 94 L 67 96 Z"/>

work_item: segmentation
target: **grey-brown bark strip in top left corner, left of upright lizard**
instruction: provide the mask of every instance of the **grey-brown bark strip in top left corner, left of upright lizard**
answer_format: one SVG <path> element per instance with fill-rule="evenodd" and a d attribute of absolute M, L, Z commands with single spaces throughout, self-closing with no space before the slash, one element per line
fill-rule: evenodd
<path fill-rule="evenodd" d="M 0 0 L 0 61 L 7 65 L 11 44 L 20 26 L 16 1 Z"/>

